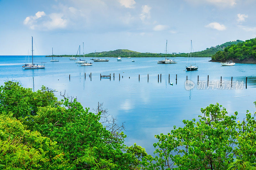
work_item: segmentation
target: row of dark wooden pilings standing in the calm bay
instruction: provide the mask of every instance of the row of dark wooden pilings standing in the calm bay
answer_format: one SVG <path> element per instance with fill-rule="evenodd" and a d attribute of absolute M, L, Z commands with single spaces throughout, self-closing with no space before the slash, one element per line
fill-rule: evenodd
<path fill-rule="evenodd" d="M 110 78 L 111 79 L 111 73 L 109 74 L 109 76 L 101 76 L 101 73 L 100 73 L 100 79 L 101 78 Z M 92 81 L 92 73 L 89 74 L 89 78 L 91 79 Z M 115 73 L 113 74 L 113 78 L 115 80 Z M 122 76 L 123 78 L 123 76 Z M 130 78 L 130 77 L 129 77 Z M 86 73 L 84 73 L 84 79 L 86 79 Z M 149 76 L 148 76 L 148 79 L 149 79 Z M 177 84 L 177 74 L 176 74 L 176 84 Z M 188 76 L 187 76 L 187 79 L 188 80 Z M 70 81 L 70 74 L 69 74 L 69 81 Z M 120 73 L 119 73 L 119 81 L 120 81 Z M 140 81 L 140 74 L 139 74 L 139 81 Z M 162 81 L 162 74 L 160 74 L 160 82 Z M 157 75 L 157 82 L 159 83 L 159 74 Z M 170 74 L 169 74 L 169 77 L 168 77 L 168 82 L 170 83 Z M 198 85 L 198 82 L 199 82 L 199 75 L 197 75 L 197 85 Z M 221 86 L 221 82 L 222 82 L 222 76 L 220 76 L 220 86 Z M 231 77 L 231 87 L 232 87 L 232 82 L 233 82 L 233 77 Z M 209 85 L 209 75 L 207 75 L 207 86 Z M 245 80 L 245 88 L 247 89 L 247 77 L 246 77 L 246 80 Z"/>

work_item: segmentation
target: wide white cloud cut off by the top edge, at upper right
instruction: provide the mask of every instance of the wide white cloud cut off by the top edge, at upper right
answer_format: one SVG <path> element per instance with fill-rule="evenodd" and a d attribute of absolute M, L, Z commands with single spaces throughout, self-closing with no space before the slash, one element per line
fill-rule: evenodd
<path fill-rule="evenodd" d="M 225 7 L 225 6 L 234 6 L 236 5 L 237 0 L 186 0 L 190 3 L 197 3 L 197 4 L 213 4 L 215 6 Z"/>

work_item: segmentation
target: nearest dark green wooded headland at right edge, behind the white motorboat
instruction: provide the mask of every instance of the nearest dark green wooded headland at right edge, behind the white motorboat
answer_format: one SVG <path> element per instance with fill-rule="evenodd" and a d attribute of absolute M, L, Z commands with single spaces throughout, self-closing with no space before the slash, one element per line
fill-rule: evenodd
<path fill-rule="evenodd" d="M 256 38 L 224 48 L 212 55 L 213 62 L 233 60 L 236 63 L 256 63 Z"/>

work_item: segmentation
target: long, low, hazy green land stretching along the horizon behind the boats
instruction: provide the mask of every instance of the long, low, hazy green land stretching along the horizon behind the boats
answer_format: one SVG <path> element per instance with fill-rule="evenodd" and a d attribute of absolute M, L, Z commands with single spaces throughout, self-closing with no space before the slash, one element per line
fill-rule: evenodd
<path fill-rule="evenodd" d="M 238 44 L 239 42 L 244 42 L 241 40 L 236 41 L 229 41 L 225 42 L 224 44 L 217 45 L 215 47 L 206 48 L 203 51 L 193 52 L 192 55 L 194 57 L 212 57 L 216 52 L 223 51 L 224 48 Z M 53 55 L 54 57 L 72 57 L 72 55 Z M 76 56 L 76 55 L 73 55 Z M 77 55 L 79 56 L 79 55 Z M 82 56 L 82 55 L 81 55 Z M 85 54 L 85 57 L 164 57 L 163 53 L 140 53 L 128 49 L 117 49 L 113 51 L 103 51 L 103 52 L 96 52 L 96 53 L 89 53 Z M 187 57 L 188 53 L 172 53 L 167 54 L 167 57 Z M 47 55 L 46 57 L 52 57 L 52 55 Z"/>

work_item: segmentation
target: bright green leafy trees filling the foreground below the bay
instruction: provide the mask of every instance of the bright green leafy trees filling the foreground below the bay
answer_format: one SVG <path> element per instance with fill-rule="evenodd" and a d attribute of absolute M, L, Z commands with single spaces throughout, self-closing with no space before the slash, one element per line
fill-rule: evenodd
<path fill-rule="evenodd" d="M 64 94 L 19 82 L 0 86 L 0 169 L 245 170 L 256 169 L 255 114 L 228 114 L 218 103 L 202 108 L 168 134 L 156 135 L 156 150 L 124 144 L 123 126 L 104 110 L 83 108 Z M 254 103 L 256 105 L 256 103 Z"/>

